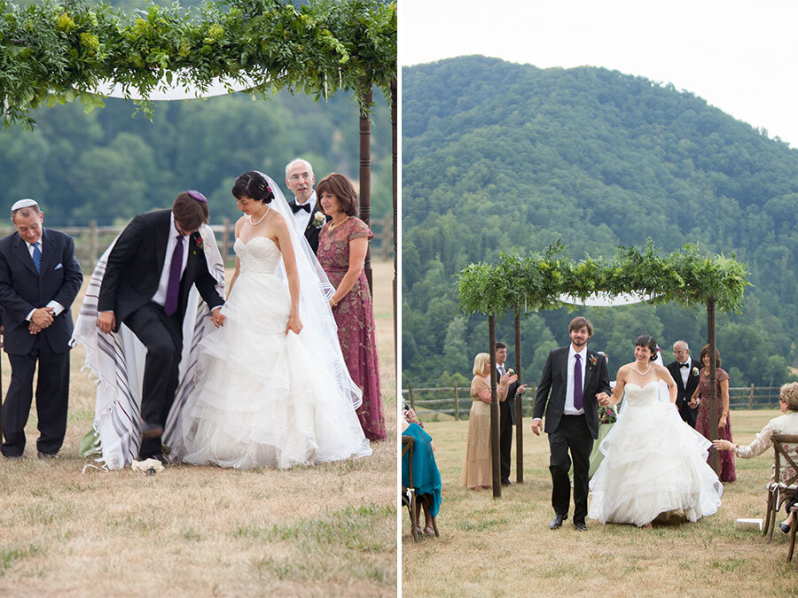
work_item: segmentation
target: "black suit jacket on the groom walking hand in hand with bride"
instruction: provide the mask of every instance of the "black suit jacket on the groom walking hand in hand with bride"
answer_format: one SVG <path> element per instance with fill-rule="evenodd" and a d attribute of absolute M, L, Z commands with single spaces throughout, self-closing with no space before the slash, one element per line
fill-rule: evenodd
<path fill-rule="evenodd" d="M 532 417 L 542 418 L 546 415 L 544 430 L 551 434 L 557 430 L 559 420 L 562 419 L 565 408 L 565 395 L 568 384 L 568 348 L 569 346 L 554 349 L 549 353 L 540 384 L 535 393 L 535 406 L 532 408 Z M 599 392 L 611 392 L 609 377 L 606 373 L 606 361 L 595 351 L 587 350 L 587 363 L 583 364 L 583 409 L 584 419 L 593 439 L 599 438 Z"/>

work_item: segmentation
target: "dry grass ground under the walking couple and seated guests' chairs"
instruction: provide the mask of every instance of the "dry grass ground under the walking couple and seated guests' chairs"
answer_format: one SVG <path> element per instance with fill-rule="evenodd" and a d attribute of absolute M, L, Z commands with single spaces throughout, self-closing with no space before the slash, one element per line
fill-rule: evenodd
<path fill-rule="evenodd" d="M 775 415 L 733 411 L 734 438 L 747 444 Z M 786 563 L 787 537 L 777 529 L 768 544 L 761 532 L 734 529 L 738 517 L 764 516 L 772 450 L 738 459 L 738 480 L 725 485 L 721 509 L 697 523 L 668 521 L 644 530 L 588 519 L 588 531 L 575 532 L 568 519 L 552 532 L 548 441 L 532 434 L 528 420 L 525 483 L 503 488 L 498 500 L 490 491 L 458 487 L 468 423 L 425 426 L 443 478 L 441 537 L 414 543 L 404 509 L 403 595 L 795 595 L 798 571 Z M 512 451 L 514 479 L 514 442 Z"/>

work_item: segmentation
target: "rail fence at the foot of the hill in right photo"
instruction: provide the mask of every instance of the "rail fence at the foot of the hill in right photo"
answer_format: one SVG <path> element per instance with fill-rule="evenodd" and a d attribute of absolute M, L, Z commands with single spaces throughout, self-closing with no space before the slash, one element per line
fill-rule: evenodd
<path fill-rule="evenodd" d="M 732 386 L 729 388 L 730 409 L 777 409 L 780 386 Z M 532 415 L 535 402 L 535 384 L 529 384 L 521 398 L 523 416 Z M 468 419 L 471 410 L 471 388 L 452 384 L 448 387 L 413 388 L 411 384 L 402 389 L 406 404 L 418 411 L 419 408 L 430 415 L 450 415 L 455 420 Z"/>

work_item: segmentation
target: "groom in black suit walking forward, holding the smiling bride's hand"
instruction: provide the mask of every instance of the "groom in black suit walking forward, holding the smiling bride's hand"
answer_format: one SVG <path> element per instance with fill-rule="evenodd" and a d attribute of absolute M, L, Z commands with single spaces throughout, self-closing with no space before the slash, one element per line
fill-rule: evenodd
<path fill-rule="evenodd" d="M 552 471 L 552 507 L 550 527 L 556 530 L 568 516 L 571 483 L 570 449 L 574 460 L 574 527 L 587 530 L 588 471 L 593 440 L 599 438 L 599 397 L 611 392 L 606 361 L 587 348 L 593 336 L 593 324 L 577 316 L 568 325 L 571 344 L 549 353 L 532 409 L 532 431 L 540 436 L 541 418 L 546 416 Z"/>

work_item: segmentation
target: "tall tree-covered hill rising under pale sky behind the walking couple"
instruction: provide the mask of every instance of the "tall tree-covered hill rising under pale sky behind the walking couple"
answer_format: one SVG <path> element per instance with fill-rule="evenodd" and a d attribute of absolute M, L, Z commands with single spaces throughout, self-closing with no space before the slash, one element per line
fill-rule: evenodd
<path fill-rule="evenodd" d="M 798 150 L 700 97 L 597 67 L 538 69 L 463 57 L 403 69 L 403 376 L 471 377 L 486 350 L 481 316 L 458 313 L 455 276 L 498 252 L 561 238 L 575 259 L 617 245 L 663 252 L 698 243 L 735 255 L 751 275 L 741 315 L 719 315 L 732 385 L 781 384 L 798 324 Z M 639 334 L 698 358 L 706 310 L 586 309 L 591 347 L 612 372 Z M 523 362 L 536 379 L 567 343 L 574 314 L 528 315 Z M 512 318 L 497 328 L 512 345 Z M 511 352 L 512 353 L 512 352 Z"/>

